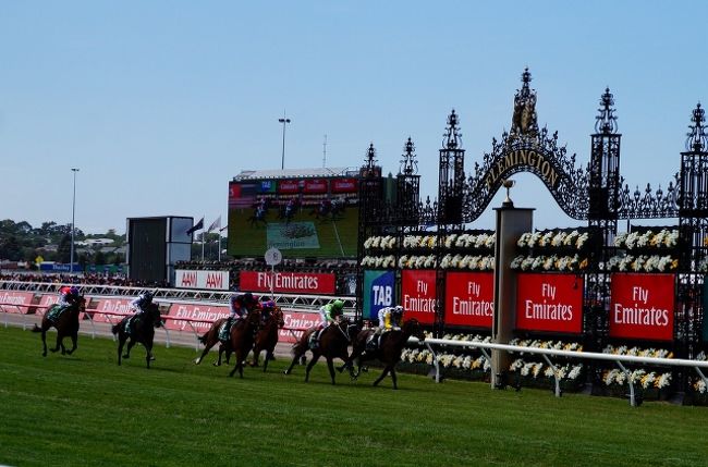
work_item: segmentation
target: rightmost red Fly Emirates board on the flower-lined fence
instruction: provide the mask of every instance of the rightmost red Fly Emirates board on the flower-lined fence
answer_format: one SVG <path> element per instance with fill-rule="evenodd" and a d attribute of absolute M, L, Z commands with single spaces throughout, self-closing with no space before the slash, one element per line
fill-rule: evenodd
<path fill-rule="evenodd" d="M 673 274 L 612 274 L 610 336 L 673 340 Z"/>

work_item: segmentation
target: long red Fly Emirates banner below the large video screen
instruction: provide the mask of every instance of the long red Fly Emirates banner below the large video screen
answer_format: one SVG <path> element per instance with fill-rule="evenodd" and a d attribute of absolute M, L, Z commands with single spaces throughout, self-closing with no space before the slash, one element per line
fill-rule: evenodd
<path fill-rule="evenodd" d="M 239 280 L 239 288 L 249 292 L 270 292 L 271 282 L 273 292 L 306 295 L 333 295 L 335 292 L 335 276 L 328 273 L 241 271 Z"/>

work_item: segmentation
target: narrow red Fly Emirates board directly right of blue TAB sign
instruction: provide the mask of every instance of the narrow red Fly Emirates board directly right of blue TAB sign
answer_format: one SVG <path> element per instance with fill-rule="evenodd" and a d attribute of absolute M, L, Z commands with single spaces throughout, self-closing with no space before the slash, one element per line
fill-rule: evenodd
<path fill-rule="evenodd" d="M 401 305 L 404 318 L 415 318 L 423 324 L 435 322 L 436 271 L 401 271 Z"/>

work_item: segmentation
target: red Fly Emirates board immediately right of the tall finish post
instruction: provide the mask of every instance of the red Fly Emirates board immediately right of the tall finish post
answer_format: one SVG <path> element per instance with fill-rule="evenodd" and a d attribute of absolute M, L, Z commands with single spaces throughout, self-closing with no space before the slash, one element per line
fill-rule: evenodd
<path fill-rule="evenodd" d="M 516 329 L 579 334 L 583 285 L 575 274 L 520 274 Z"/>

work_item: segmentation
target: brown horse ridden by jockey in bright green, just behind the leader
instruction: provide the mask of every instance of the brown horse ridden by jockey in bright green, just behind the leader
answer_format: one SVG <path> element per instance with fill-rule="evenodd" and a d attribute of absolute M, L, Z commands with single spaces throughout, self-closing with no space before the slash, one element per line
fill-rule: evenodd
<path fill-rule="evenodd" d="M 334 381 L 334 358 L 339 358 L 342 361 L 349 361 L 349 344 L 352 341 L 352 335 L 356 332 L 356 324 L 350 324 L 349 319 L 340 318 L 334 323 L 325 328 L 319 337 L 319 346 L 317 348 L 309 348 L 309 339 L 314 332 L 318 332 L 319 327 L 309 328 L 303 333 L 303 336 L 297 341 L 292 348 L 293 361 L 290 364 L 290 367 L 284 371 L 285 374 L 290 374 L 295 366 L 295 362 L 303 356 L 307 351 L 313 353 L 313 358 L 307 364 L 307 369 L 305 371 L 305 382 L 309 380 L 309 371 L 313 369 L 320 356 L 325 356 L 327 359 L 327 368 L 329 369 L 329 374 L 332 379 L 332 384 L 335 384 Z M 350 373 L 354 378 L 354 369 L 350 366 Z"/>

